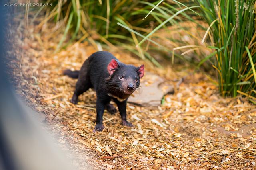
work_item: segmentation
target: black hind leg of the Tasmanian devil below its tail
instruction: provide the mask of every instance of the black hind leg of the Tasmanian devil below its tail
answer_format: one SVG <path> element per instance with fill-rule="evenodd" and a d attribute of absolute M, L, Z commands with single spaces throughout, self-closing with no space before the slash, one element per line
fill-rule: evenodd
<path fill-rule="evenodd" d="M 76 82 L 76 90 L 72 96 L 70 102 L 77 104 L 78 96 L 83 92 L 86 92 L 91 86 L 90 77 L 88 76 L 89 61 L 86 60 L 79 71 L 78 80 Z"/>

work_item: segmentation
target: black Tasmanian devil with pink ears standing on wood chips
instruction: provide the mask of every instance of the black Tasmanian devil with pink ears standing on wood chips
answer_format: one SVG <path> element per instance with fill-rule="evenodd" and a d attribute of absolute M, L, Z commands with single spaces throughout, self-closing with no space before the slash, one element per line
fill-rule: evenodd
<path fill-rule="evenodd" d="M 77 104 L 78 96 L 89 88 L 96 91 L 96 126 L 95 130 L 102 131 L 103 113 L 106 108 L 115 113 L 115 107 L 110 104 L 113 100 L 122 117 L 122 125 L 132 127 L 126 120 L 126 103 L 128 97 L 140 86 L 140 79 L 144 75 L 144 65 L 135 67 L 121 63 L 107 51 L 93 53 L 82 65 L 80 71 L 65 70 L 64 75 L 78 78 L 76 90 L 71 102 Z"/>

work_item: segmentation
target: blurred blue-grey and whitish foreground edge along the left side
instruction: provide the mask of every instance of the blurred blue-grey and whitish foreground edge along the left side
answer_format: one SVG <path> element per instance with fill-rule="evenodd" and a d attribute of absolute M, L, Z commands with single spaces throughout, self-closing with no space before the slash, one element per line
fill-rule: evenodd
<path fill-rule="evenodd" d="M 74 169 L 54 140 L 28 118 L 31 110 L 22 106 L 8 81 L 5 57 L 8 48 L 12 48 L 6 39 L 11 21 L 7 16 L 10 7 L 4 2 L 8 1 L 0 2 L 0 170 Z"/>

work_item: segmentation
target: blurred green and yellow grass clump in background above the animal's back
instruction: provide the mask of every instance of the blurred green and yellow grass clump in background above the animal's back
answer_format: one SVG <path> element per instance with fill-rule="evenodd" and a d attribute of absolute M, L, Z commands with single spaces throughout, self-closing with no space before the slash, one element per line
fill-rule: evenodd
<path fill-rule="evenodd" d="M 149 27 L 151 21 L 162 22 L 162 19 L 159 19 L 161 14 L 155 12 L 152 12 L 152 15 L 142 21 L 152 9 L 151 5 L 153 4 L 138 0 L 53 0 L 51 3 L 52 7 L 41 8 L 40 11 L 45 12 L 50 8 L 50 14 L 55 14 L 48 20 L 66 23 L 64 35 L 55 50 L 56 52 L 67 45 L 64 41 L 67 40 L 67 33 L 69 32 L 72 38 L 69 39 L 68 43 L 74 40 L 89 40 L 95 48 L 97 48 L 97 42 L 110 47 L 118 45 L 161 67 L 150 53 L 146 53 L 142 47 L 136 46 L 139 40 L 134 33 L 117 25 L 119 22 L 132 30 L 136 30 Z M 36 13 L 36 16 L 38 14 Z M 48 16 L 50 14 L 46 13 Z M 144 33 L 145 30 L 147 31 L 147 29 L 140 31 Z"/>

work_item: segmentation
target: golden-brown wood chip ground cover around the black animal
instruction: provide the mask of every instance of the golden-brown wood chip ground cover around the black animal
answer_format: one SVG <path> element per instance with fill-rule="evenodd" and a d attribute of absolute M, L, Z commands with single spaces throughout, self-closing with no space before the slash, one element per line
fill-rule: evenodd
<path fill-rule="evenodd" d="M 76 80 L 61 74 L 65 68 L 79 69 L 95 51 L 88 43 L 75 43 L 54 54 L 60 37 L 35 34 L 28 28 L 24 39 L 16 36 L 10 74 L 19 96 L 36 111 L 46 115 L 49 129 L 58 134 L 59 145 L 72 150 L 84 169 L 85 160 L 95 169 L 254 169 L 256 108 L 245 98 L 222 98 L 203 74 L 174 72 L 146 63 L 146 72 L 165 75 L 177 84 L 174 95 L 165 97 L 161 107 L 147 109 L 128 104 L 128 120 L 104 114 L 105 129 L 93 133 L 96 121 L 96 94 L 89 90 L 80 103 L 69 102 Z M 18 30 L 22 35 L 24 30 Z M 112 51 L 121 61 L 140 65 L 120 51 Z M 146 80 L 144 80 L 146 81 Z M 244 128 L 244 125 L 247 129 Z"/>

